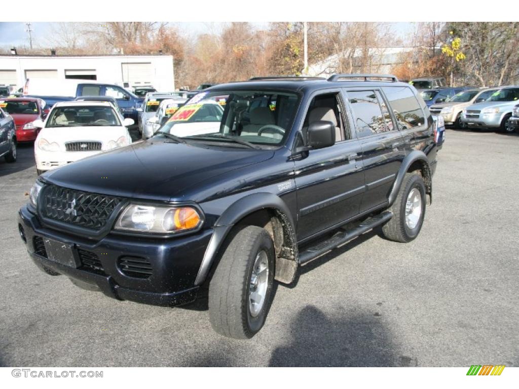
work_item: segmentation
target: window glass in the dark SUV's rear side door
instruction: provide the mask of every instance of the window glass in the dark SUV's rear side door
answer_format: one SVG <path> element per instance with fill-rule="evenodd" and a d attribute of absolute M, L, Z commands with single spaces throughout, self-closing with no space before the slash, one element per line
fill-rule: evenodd
<path fill-rule="evenodd" d="M 348 99 L 356 118 L 355 125 L 359 137 L 386 131 L 375 91 L 349 91 Z"/>

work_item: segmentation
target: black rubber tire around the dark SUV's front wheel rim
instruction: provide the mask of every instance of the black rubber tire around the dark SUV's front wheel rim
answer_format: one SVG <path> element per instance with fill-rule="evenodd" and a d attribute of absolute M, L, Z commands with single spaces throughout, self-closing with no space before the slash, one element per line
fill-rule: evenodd
<path fill-rule="evenodd" d="M 258 314 L 249 308 L 251 274 L 256 257 L 268 258 L 267 288 Z M 248 226 L 233 233 L 224 244 L 209 284 L 209 319 L 218 334 L 234 339 L 252 338 L 265 324 L 274 283 L 274 244 L 263 228 Z"/>

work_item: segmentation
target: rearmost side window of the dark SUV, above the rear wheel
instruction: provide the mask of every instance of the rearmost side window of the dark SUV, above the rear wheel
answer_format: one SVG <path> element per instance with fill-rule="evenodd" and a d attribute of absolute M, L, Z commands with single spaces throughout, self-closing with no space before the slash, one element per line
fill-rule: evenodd
<path fill-rule="evenodd" d="M 383 87 L 401 130 L 423 126 L 426 122 L 416 96 L 407 87 Z"/>

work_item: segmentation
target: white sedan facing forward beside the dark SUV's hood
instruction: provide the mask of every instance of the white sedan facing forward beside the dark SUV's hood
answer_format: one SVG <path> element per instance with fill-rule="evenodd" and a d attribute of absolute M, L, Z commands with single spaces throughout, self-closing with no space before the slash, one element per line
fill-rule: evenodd
<path fill-rule="evenodd" d="M 126 127 L 133 119 L 122 120 L 108 102 L 69 101 L 56 103 L 34 142 L 38 174 L 102 151 L 127 146 L 131 137 Z"/>

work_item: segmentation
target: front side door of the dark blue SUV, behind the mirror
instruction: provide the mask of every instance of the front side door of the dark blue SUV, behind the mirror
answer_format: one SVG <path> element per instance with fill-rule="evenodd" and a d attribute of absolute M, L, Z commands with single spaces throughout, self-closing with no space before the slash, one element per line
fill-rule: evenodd
<path fill-rule="evenodd" d="M 300 242 L 357 216 L 364 192 L 362 148 L 346 120 L 340 91 L 316 93 L 305 109 L 301 145 L 312 121 L 333 121 L 337 129 L 333 146 L 309 150 L 294 161 Z"/>

